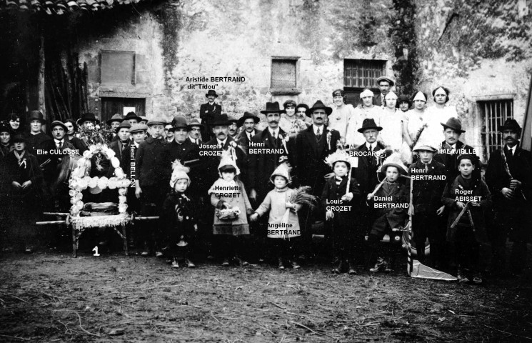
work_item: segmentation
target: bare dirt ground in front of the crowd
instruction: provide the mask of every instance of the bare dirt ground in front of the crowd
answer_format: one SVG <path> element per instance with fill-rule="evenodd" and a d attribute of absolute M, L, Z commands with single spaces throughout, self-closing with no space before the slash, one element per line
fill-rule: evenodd
<path fill-rule="evenodd" d="M 0 342 L 526 342 L 530 279 L 471 286 L 326 264 L 171 269 L 82 253 L 0 255 Z"/>

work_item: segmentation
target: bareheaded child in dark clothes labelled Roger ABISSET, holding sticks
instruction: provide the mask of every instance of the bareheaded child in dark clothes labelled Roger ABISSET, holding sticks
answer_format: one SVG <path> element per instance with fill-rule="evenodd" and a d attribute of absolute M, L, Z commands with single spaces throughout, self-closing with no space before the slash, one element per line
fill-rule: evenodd
<path fill-rule="evenodd" d="M 446 185 L 441 201 L 449 209 L 447 240 L 453 249 L 458 281 L 468 282 L 467 274 L 471 272 L 473 282 L 481 284 L 478 249 L 479 243 L 486 242 L 484 213 L 491 207 L 491 194 L 482 179 L 471 177 L 475 161 L 476 156 L 471 154 L 458 156 L 460 175 Z"/>

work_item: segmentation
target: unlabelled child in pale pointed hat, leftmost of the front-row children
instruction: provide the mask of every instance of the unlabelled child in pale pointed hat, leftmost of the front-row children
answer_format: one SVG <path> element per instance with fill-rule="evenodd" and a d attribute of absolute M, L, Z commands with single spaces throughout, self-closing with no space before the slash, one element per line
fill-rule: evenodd
<path fill-rule="evenodd" d="M 172 164 L 172 169 L 170 179 L 172 190 L 166 196 L 161 212 L 161 223 L 166 226 L 166 235 L 169 238 L 169 247 L 164 253 L 171 259 L 172 267 L 179 268 L 177 255 L 181 247 L 186 267 L 194 268 L 196 266 L 191 261 L 193 253 L 191 245 L 194 244 L 192 241 L 195 232 L 198 231 L 198 225 L 194 215 L 194 204 L 185 195 L 186 189 L 190 186 L 190 178 L 187 175 L 190 169 L 177 160 Z"/>

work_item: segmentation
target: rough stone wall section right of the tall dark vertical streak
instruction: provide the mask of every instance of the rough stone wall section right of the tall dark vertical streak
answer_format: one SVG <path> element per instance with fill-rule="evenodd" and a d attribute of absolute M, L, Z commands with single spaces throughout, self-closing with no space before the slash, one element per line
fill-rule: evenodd
<path fill-rule="evenodd" d="M 532 1 L 417 0 L 416 7 L 419 86 L 451 90 L 449 104 L 466 126 L 464 140 L 482 145 L 476 101 L 486 96 L 513 99 L 514 118 L 523 123 L 532 73 Z"/>

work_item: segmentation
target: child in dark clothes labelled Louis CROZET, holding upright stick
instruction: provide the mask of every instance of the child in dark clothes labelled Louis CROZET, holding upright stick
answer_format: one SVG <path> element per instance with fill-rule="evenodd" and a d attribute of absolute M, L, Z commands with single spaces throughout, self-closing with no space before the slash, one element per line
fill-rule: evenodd
<path fill-rule="evenodd" d="M 348 178 L 353 161 L 345 151 L 336 151 L 325 159 L 334 172 L 334 177 L 327 180 L 321 194 L 328 222 L 328 239 L 332 244 L 333 274 L 343 272 L 345 267 L 348 267 L 348 274 L 358 274 L 355 253 L 362 249 L 363 233 L 353 227 L 358 212 L 356 204 L 360 202 L 361 195 L 356 179 Z"/>

